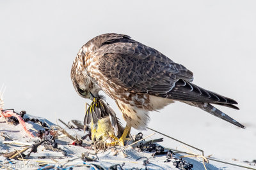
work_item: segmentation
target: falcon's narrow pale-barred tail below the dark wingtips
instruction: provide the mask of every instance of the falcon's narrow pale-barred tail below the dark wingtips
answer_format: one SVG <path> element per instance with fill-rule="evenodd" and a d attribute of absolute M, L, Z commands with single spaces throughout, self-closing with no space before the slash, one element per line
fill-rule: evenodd
<path fill-rule="evenodd" d="M 226 120 L 227 122 L 230 122 L 230 124 L 237 125 L 238 127 L 241 127 L 245 129 L 244 125 L 240 124 L 236 120 L 234 120 L 231 117 L 228 117 L 225 113 L 222 111 L 218 110 L 214 106 L 212 106 L 210 103 L 193 103 L 194 106 L 197 106 L 198 108 L 207 111 L 208 113 L 211 113 L 212 115 L 219 117 L 223 120 Z"/>

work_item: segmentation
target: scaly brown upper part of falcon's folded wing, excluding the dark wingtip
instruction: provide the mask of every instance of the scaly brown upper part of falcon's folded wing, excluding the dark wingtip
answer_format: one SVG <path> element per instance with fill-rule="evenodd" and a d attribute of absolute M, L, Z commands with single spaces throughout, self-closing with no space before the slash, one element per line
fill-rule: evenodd
<path fill-rule="evenodd" d="M 166 96 L 178 80 L 193 80 L 186 67 L 126 36 L 102 43 L 95 55 L 100 73 L 132 92 Z"/>

